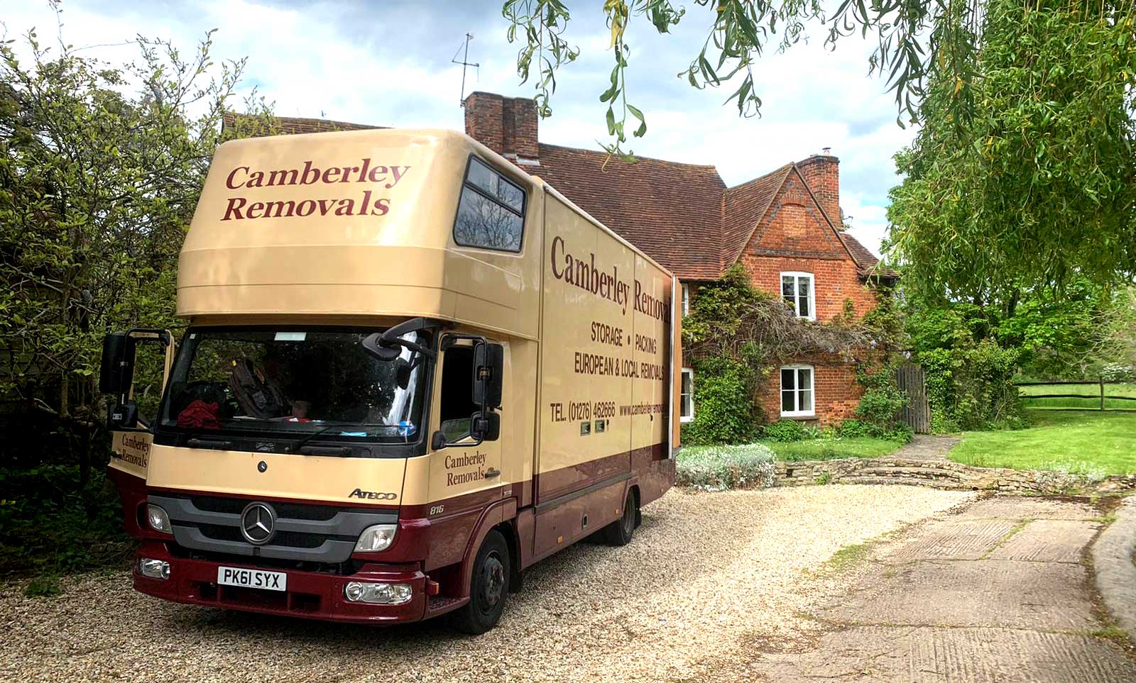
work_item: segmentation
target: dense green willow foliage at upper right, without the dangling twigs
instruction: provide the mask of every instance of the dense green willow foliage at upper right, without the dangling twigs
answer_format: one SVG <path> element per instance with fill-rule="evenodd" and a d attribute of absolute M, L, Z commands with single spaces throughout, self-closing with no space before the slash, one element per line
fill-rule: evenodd
<path fill-rule="evenodd" d="M 1130 6 L 1129 10 L 1130 10 Z M 989 0 L 971 116 L 934 78 L 896 155 L 891 253 L 920 296 L 994 305 L 1136 276 L 1136 23 L 1120 8 Z"/>

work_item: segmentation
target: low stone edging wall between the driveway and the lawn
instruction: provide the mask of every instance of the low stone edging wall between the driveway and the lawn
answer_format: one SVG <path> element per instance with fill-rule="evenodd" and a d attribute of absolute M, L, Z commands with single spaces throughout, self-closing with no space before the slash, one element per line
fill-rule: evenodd
<path fill-rule="evenodd" d="M 951 461 L 884 456 L 776 463 L 772 486 L 816 483 L 907 483 L 938 489 L 1068 494 L 1136 490 L 1136 474 L 1093 481 L 1083 474 L 1045 470 L 975 467 Z"/>

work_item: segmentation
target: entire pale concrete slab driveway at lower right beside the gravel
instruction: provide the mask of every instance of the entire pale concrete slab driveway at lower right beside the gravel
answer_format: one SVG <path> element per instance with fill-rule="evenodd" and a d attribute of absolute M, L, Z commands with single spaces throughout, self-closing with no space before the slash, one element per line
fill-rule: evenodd
<path fill-rule="evenodd" d="M 1083 503 L 993 497 L 880 543 L 812 612 L 804 648 L 753 663 L 783 682 L 1136 681 L 1130 644 L 1094 604 Z"/>

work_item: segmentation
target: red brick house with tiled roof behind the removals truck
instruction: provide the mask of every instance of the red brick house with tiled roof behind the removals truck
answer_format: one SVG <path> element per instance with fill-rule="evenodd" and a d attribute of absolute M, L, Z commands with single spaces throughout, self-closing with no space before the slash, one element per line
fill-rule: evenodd
<path fill-rule="evenodd" d="M 466 133 L 548 180 L 568 199 L 678 276 L 683 307 L 700 283 L 741 262 L 754 286 L 782 295 L 797 315 L 830 320 L 851 302 L 858 317 L 876 304 L 869 277 L 878 260 L 842 230 L 840 161 L 815 154 L 734 187 L 713 166 L 546 144 L 533 101 L 475 92 L 466 99 Z M 226 116 L 234 125 L 233 115 Z M 283 133 L 370 128 L 321 119 L 278 119 Z M 860 399 L 855 369 L 833 357 L 802 357 L 771 369 L 762 407 L 769 420 L 821 424 L 852 416 Z M 683 420 L 694 413 L 698 378 L 683 370 Z"/>

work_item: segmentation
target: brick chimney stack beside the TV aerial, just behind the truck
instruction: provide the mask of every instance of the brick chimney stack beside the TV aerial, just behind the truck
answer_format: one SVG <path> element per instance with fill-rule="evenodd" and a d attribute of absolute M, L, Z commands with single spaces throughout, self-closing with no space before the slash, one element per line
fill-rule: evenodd
<path fill-rule="evenodd" d="M 466 134 L 518 165 L 536 165 L 536 103 L 475 92 L 466 98 Z"/>

